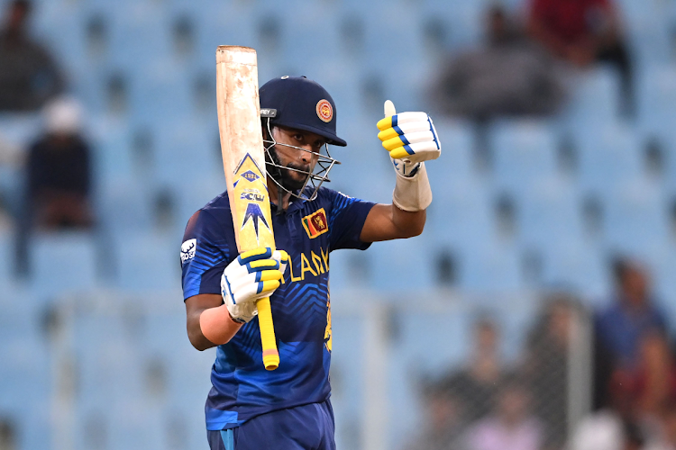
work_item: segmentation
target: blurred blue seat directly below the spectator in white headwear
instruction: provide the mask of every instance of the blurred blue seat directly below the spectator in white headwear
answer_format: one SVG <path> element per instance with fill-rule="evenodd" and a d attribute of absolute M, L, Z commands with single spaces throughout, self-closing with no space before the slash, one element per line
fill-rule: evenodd
<path fill-rule="evenodd" d="M 88 232 L 39 233 L 30 242 L 31 283 L 57 296 L 96 287 L 96 238 Z"/>

